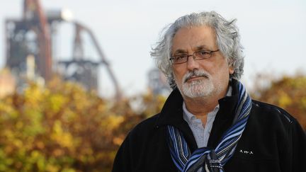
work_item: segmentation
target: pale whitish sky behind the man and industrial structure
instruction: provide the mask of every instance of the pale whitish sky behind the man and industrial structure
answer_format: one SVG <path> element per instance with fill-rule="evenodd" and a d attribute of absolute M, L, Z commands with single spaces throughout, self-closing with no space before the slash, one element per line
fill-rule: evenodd
<path fill-rule="evenodd" d="M 44 9 L 69 8 L 74 20 L 91 28 L 115 76 L 127 95 L 147 88 L 147 73 L 154 67 L 149 55 L 159 33 L 176 18 L 192 12 L 217 11 L 237 18 L 244 46 L 242 81 L 251 86 L 254 75 L 295 74 L 306 71 L 306 1 L 205 1 L 205 0 L 42 0 Z M 4 19 L 21 18 L 21 0 L 2 1 L 0 6 L 0 68 L 4 67 Z M 55 57 L 71 56 L 74 30 L 63 24 Z M 70 27 L 70 28 L 69 28 Z M 97 57 L 94 49 L 85 50 Z M 101 95 L 112 91 L 106 70 L 100 72 Z M 305 72 L 306 73 L 306 72 Z"/>

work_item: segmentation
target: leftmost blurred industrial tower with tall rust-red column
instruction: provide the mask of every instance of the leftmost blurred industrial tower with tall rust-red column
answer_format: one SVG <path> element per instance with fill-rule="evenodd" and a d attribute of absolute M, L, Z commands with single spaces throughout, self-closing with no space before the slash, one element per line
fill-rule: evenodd
<path fill-rule="evenodd" d="M 36 72 L 46 81 L 52 69 L 49 24 L 38 0 L 25 0 L 22 20 L 6 20 L 6 64 L 16 74 L 26 69 L 26 57 L 35 56 Z"/>

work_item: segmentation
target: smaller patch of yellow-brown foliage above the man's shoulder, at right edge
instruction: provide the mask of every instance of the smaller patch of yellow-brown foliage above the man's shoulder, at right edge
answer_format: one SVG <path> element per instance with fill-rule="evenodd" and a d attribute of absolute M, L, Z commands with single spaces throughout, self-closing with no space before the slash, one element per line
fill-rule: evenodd
<path fill-rule="evenodd" d="M 266 103 L 277 105 L 293 115 L 306 130 L 306 76 L 283 76 L 272 80 L 268 77 L 256 79 L 257 84 L 265 81 L 268 86 L 256 86 L 252 97 Z"/>

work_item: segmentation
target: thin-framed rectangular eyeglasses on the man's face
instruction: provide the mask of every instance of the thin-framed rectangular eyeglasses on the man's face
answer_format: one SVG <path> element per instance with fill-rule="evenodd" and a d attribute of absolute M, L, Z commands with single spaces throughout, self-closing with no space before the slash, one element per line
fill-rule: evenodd
<path fill-rule="evenodd" d="M 200 59 L 209 59 L 212 57 L 213 52 L 217 52 L 218 50 L 215 51 L 210 51 L 210 50 L 200 50 L 197 52 L 193 52 L 192 55 L 188 54 L 179 54 L 179 55 L 174 55 L 173 57 L 170 58 L 170 61 L 172 64 L 181 64 L 181 63 L 186 63 L 188 61 L 188 57 L 193 57 L 194 60 L 200 60 Z"/>

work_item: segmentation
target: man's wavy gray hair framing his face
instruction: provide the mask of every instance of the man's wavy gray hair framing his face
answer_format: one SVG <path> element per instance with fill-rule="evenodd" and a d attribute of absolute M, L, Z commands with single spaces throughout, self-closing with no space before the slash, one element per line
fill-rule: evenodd
<path fill-rule="evenodd" d="M 215 30 L 217 46 L 227 58 L 227 62 L 234 68 L 234 73 L 229 78 L 240 79 L 243 74 L 244 55 L 240 43 L 240 35 L 235 24 L 236 19 L 227 21 L 215 11 L 191 13 L 178 18 L 174 23 L 164 28 L 162 37 L 157 46 L 150 52 L 154 57 L 157 67 L 167 77 L 171 88 L 176 88 L 174 74 L 171 68 L 171 46 L 174 35 L 180 28 L 207 25 Z"/>

